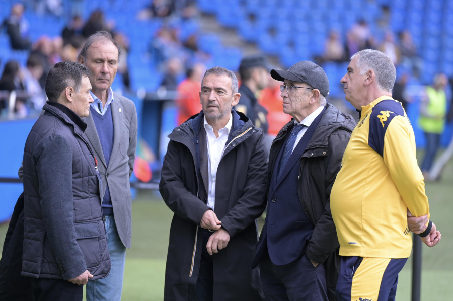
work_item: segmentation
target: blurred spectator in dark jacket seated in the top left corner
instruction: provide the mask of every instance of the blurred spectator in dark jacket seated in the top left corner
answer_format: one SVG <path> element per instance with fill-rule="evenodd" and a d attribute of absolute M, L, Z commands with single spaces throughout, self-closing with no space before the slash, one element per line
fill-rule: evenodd
<path fill-rule="evenodd" d="M 11 48 L 15 50 L 30 50 L 31 47 L 28 38 L 30 24 L 24 17 L 24 9 L 23 4 L 14 4 L 10 16 L 3 22 L 10 37 Z"/>

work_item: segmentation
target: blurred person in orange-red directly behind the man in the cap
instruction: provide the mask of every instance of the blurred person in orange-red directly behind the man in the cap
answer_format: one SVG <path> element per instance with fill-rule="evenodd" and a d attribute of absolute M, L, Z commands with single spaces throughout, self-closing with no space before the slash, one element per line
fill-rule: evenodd
<path fill-rule="evenodd" d="M 283 112 L 283 98 L 280 96 L 281 82 L 274 80 L 268 73 L 269 84 L 261 90 L 258 102 L 267 110 L 268 134 L 272 138 L 278 134 L 291 116 Z M 270 149 L 270 148 L 269 148 Z"/>

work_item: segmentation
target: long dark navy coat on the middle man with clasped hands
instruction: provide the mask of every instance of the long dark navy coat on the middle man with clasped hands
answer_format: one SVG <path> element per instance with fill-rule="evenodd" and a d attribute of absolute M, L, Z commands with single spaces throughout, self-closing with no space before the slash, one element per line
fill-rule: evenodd
<path fill-rule="evenodd" d="M 267 151 L 261 129 L 244 114 L 232 114 L 233 126 L 217 169 L 214 208 L 231 240 L 228 247 L 213 254 L 213 299 L 250 301 L 260 299 L 257 287 L 251 284 L 252 278 L 259 279 L 251 262 L 258 236 L 255 219 L 266 206 Z M 199 227 L 209 209 L 199 168 L 198 134 L 203 118 L 200 112 L 175 128 L 164 157 L 159 191 L 175 213 L 165 271 L 165 300 L 188 300 L 189 290 L 195 290 L 201 250 L 206 248 L 201 244 Z"/>

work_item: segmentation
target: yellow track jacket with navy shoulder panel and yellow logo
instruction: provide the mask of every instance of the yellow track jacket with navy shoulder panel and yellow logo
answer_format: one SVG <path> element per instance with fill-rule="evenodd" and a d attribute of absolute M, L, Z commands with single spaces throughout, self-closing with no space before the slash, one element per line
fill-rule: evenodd
<path fill-rule="evenodd" d="M 330 196 L 341 256 L 407 258 L 407 209 L 429 214 L 414 131 L 400 102 L 362 107 Z"/>

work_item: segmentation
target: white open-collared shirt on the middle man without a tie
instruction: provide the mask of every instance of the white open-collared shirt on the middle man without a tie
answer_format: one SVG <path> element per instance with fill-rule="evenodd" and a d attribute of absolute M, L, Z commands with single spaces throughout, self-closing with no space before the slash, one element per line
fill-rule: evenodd
<path fill-rule="evenodd" d="M 225 149 L 228 135 L 230 134 L 233 125 L 233 116 L 230 114 L 230 120 L 225 127 L 218 131 L 218 138 L 215 137 L 214 129 L 210 126 L 206 117 L 204 117 L 204 129 L 206 130 L 206 144 L 208 154 L 208 173 L 209 173 L 209 188 L 207 205 L 214 210 L 215 205 L 215 180 L 217 178 L 217 167 L 222 158 L 223 150 Z"/>

